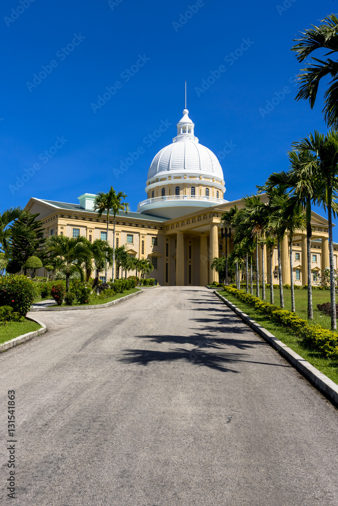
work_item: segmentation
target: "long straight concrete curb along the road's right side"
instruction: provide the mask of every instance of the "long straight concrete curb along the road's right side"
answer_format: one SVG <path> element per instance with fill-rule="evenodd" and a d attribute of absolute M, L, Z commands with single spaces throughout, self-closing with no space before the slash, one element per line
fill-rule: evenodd
<path fill-rule="evenodd" d="M 298 371 L 300 371 L 318 390 L 338 405 L 338 385 L 332 379 L 327 377 L 323 372 L 320 372 L 316 367 L 307 362 L 301 355 L 295 353 L 291 348 L 286 346 L 282 341 L 276 338 L 271 332 L 255 322 L 250 316 L 243 313 L 234 304 L 222 297 L 216 290 L 214 294 L 230 309 L 234 311 L 252 330 L 257 332 L 263 339 L 265 339 L 273 348 L 280 352 Z"/>

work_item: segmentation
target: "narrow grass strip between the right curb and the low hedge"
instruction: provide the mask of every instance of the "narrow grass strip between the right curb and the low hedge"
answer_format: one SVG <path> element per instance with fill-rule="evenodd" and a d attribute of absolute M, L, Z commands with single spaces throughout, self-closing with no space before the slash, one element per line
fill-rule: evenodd
<path fill-rule="evenodd" d="M 250 316 L 250 318 L 253 318 L 266 330 L 269 330 L 269 332 L 274 334 L 276 338 L 280 339 L 284 344 L 291 348 L 291 350 L 298 353 L 298 355 L 301 355 L 310 364 L 338 384 L 337 360 L 325 358 L 322 353 L 307 346 L 303 340 L 299 338 L 299 336 L 292 332 L 292 330 L 272 322 L 267 315 L 258 313 L 255 308 L 252 308 L 249 304 L 239 300 L 232 293 L 229 293 L 226 290 L 221 290 L 219 293 L 228 299 L 228 301 L 235 304 L 238 309 Z"/>

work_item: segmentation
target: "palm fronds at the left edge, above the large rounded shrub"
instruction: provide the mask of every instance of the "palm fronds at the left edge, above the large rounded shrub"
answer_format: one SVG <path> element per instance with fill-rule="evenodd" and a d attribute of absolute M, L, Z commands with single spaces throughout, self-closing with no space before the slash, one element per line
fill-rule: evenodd
<path fill-rule="evenodd" d="M 12 238 L 33 239 L 32 232 L 22 224 L 15 227 L 14 220 L 23 218 L 26 212 L 21 207 L 11 207 L 0 213 L 0 252 L 5 253 L 6 258 L 10 256 Z"/>

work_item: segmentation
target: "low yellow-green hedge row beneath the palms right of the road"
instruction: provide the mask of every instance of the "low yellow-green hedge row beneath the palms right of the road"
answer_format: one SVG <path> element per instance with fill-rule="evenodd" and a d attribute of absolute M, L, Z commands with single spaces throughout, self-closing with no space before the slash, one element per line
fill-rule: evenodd
<path fill-rule="evenodd" d="M 308 346 L 317 349 L 327 358 L 338 359 L 338 334 L 321 325 L 310 325 L 307 320 L 299 318 L 295 313 L 278 306 L 263 302 L 250 293 L 224 286 L 224 290 L 232 293 L 245 304 L 255 308 L 258 313 L 267 315 L 271 321 L 290 328 Z"/>

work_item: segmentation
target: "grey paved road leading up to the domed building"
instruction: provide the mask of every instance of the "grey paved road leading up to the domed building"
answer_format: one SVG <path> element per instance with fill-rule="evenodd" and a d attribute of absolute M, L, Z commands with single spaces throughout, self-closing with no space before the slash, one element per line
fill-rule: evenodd
<path fill-rule="evenodd" d="M 34 316 L 49 332 L 0 356 L 16 504 L 338 504 L 337 410 L 211 291 Z"/>

